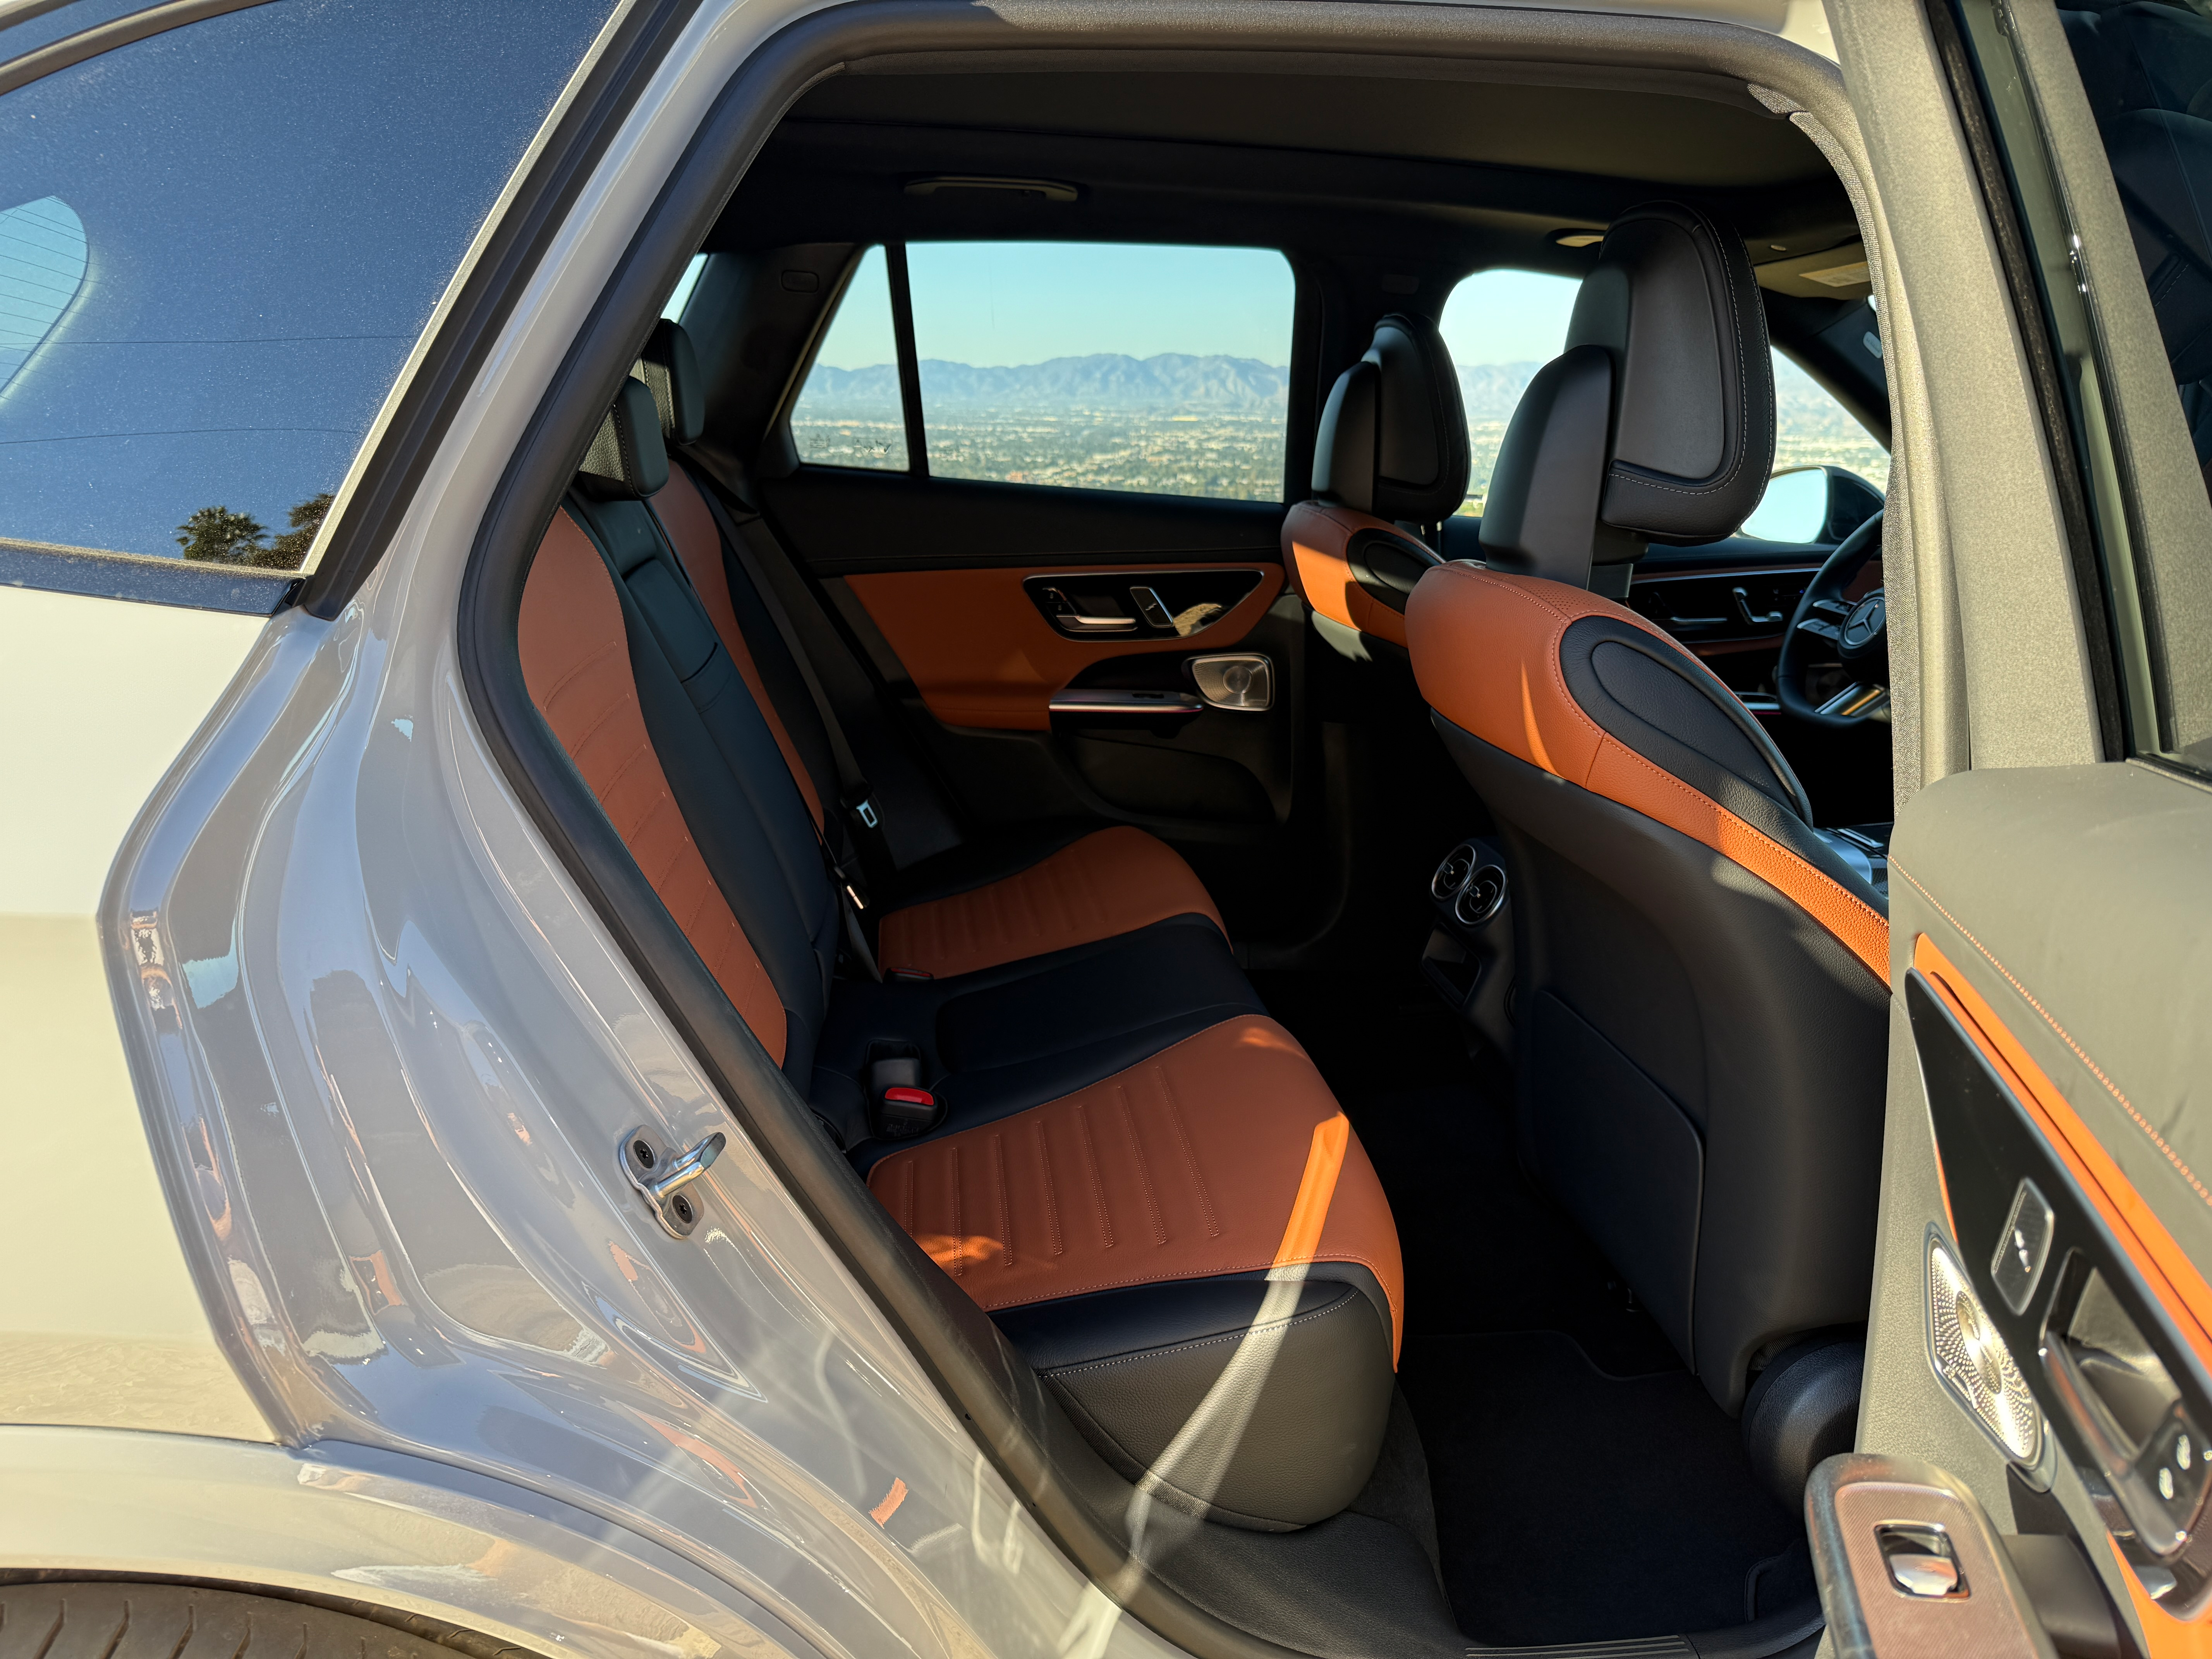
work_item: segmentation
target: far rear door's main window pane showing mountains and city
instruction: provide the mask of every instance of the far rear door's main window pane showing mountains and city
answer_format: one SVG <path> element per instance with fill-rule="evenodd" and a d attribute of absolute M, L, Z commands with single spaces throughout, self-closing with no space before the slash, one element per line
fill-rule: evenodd
<path fill-rule="evenodd" d="M 907 265 L 931 476 L 1283 500 L 1283 254 L 971 241 Z"/>

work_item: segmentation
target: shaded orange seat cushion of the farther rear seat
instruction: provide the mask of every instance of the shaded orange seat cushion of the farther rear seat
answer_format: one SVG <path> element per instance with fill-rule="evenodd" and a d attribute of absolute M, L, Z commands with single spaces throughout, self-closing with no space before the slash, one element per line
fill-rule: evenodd
<path fill-rule="evenodd" d="M 1170 916 L 1206 916 L 1221 927 L 1221 911 L 1175 847 L 1115 825 L 1013 876 L 891 911 L 878 929 L 876 956 L 885 969 L 947 980 L 1133 933 Z"/>

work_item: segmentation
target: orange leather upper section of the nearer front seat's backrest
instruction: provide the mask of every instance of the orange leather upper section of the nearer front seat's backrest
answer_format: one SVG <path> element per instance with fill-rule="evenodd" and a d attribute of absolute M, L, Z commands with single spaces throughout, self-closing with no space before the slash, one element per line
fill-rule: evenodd
<path fill-rule="evenodd" d="M 1559 668 L 1559 641 L 1582 617 L 1632 624 L 1681 653 L 1672 635 L 1595 593 L 1475 564 L 1444 564 L 1420 580 L 1405 608 L 1413 679 L 1429 708 L 1462 732 L 1743 865 L 1887 984 L 1889 918 L 1584 712 Z"/>

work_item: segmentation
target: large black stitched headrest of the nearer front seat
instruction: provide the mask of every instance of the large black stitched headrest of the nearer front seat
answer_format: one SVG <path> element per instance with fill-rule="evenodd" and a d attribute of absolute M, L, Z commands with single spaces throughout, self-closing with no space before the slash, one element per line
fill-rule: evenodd
<path fill-rule="evenodd" d="M 1482 557 L 1590 584 L 1648 542 L 1732 535 L 1774 469 L 1774 363 L 1743 239 L 1679 201 L 1630 208 L 1582 279 L 1566 352 L 1506 425 Z"/>

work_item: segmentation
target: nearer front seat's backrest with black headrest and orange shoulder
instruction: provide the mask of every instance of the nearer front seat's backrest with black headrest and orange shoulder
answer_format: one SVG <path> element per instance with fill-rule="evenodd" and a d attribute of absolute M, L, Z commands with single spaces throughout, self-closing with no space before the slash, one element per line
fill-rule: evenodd
<path fill-rule="evenodd" d="M 1867 1316 L 1889 920 L 1759 719 L 1586 586 L 1593 555 L 1714 540 L 1759 498 L 1741 246 L 1626 215 L 1573 338 L 1509 427 L 1489 560 L 1429 571 L 1407 637 L 1506 843 L 1524 1161 L 1734 1411 L 1761 1354 Z"/>

